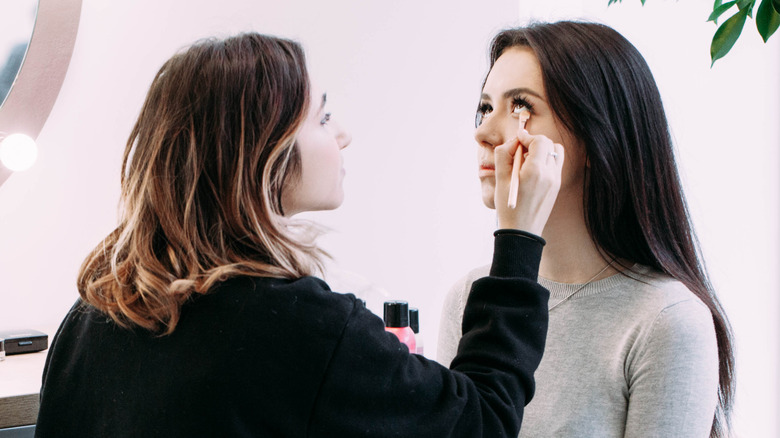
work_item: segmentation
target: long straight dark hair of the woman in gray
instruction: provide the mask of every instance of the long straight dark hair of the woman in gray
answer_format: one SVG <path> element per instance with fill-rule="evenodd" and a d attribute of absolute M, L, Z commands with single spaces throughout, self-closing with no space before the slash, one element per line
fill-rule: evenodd
<path fill-rule="evenodd" d="M 628 40 L 596 23 L 502 31 L 491 44 L 490 67 L 513 46 L 534 51 L 550 107 L 585 148 L 585 221 L 599 249 L 670 275 L 710 309 L 720 370 L 711 437 L 726 436 L 734 396 L 731 328 L 699 256 L 650 68 Z"/>

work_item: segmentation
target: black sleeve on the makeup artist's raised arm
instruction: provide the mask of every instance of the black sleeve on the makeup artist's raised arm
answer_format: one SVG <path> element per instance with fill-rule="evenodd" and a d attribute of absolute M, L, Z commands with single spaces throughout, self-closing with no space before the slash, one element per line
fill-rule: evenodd
<path fill-rule="evenodd" d="M 544 349 L 549 293 L 536 282 L 541 242 L 501 234 L 495 244 L 491 275 L 472 287 L 452 369 L 409 354 L 356 302 L 309 436 L 517 436 Z"/>

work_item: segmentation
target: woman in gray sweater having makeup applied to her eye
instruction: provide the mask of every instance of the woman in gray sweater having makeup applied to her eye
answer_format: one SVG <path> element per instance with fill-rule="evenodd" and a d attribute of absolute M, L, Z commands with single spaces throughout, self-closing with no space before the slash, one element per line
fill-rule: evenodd
<path fill-rule="evenodd" d="M 550 325 L 520 436 L 725 436 L 730 328 L 697 253 L 644 59 L 600 24 L 500 32 L 475 133 L 489 208 L 503 208 L 493 150 L 515 135 L 524 108 L 528 132 L 561 143 L 566 164 L 542 232 L 539 282 L 550 290 Z M 455 356 L 469 288 L 486 269 L 447 297 L 442 363 Z"/>

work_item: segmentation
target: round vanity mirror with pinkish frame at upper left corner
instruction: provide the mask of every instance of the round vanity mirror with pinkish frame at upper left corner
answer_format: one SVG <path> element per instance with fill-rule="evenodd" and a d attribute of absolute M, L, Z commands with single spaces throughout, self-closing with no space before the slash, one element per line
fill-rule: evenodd
<path fill-rule="evenodd" d="M 35 139 L 54 106 L 70 63 L 81 0 L 3 2 L 0 15 L 6 17 L 7 13 L 17 16 L 19 22 L 14 22 L 13 32 L 0 35 L 0 69 L 8 67 L 8 72 L 1 74 L 10 78 L 6 79 L 10 85 L 7 90 L 0 78 L 0 140 L 17 133 Z M 22 22 L 30 23 L 27 31 Z M 10 175 L 11 171 L 0 164 L 0 185 Z"/>

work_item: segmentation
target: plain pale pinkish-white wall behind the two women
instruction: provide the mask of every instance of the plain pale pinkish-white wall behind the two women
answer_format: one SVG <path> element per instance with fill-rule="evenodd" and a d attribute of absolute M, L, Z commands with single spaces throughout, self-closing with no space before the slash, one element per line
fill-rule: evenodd
<path fill-rule="evenodd" d="M 347 198 L 310 214 L 333 231 L 334 285 L 381 309 L 421 309 L 433 355 L 440 303 L 489 261 L 473 114 L 498 29 L 529 16 L 585 17 L 645 55 L 671 118 L 713 282 L 736 333 L 738 436 L 778 436 L 780 37 L 753 27 L 709 67 L 711 2 L 648 0 L 84 0 L 64 88 L 39 162 L 0 187 L 0 329 L 56 326 L 87 252 L 114 226 L 124 142 L 159 66 L 209 35 L 257 30 L 307 48 L 331 109 L 352 130 Z M 697 3 L 698 5 L 694 5 Z"/>

